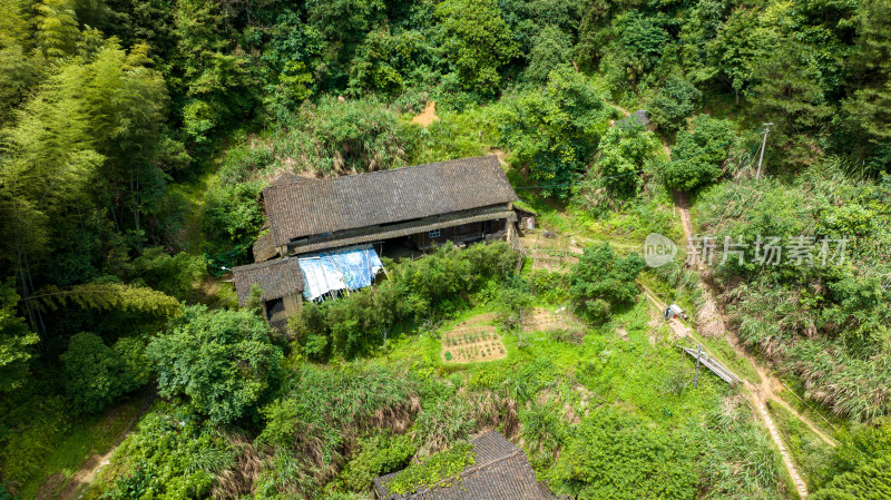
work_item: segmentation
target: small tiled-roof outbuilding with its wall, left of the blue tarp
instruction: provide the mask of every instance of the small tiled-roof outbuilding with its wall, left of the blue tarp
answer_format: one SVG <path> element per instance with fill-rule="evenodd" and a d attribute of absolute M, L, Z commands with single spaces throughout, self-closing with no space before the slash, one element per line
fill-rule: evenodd
<path fill-rule="evenodd" d="M 254 285 L 263 291 L 260 296 L 261 307 L 266 321 L 273 326 L 284 324 L 303 304 L 303 274 L 296 258 L 238 266 L 232 269 L 232 275 L 238 305 L 242 307 L 249 301 Z"/>

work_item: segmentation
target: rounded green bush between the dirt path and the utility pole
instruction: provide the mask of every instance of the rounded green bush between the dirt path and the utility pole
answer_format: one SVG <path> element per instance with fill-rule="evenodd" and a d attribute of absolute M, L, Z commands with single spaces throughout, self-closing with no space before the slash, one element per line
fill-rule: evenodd
<path fill-rule="evenodd" d="M 728 143 L 734 139 L 731 122 L 699 115 L 693 133 L 681 133 L 672 150 L 672 161 L 658 167 L 658 175 L 669 188 L 695 190 L 714 183 L 722 174 Z"/>

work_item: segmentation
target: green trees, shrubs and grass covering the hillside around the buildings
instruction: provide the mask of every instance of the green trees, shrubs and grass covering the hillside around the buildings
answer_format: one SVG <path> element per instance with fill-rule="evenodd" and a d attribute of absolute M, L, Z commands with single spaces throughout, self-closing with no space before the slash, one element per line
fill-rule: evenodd
<path fill-rule="evenodd" d="M 237 307 L 277 176 L 484 154 L 556 239 Z M 890 226 L 890 0 L 4 0 L 0 499 L 370 499 L 492 429 L 578 499 L 887 499 Z"/>

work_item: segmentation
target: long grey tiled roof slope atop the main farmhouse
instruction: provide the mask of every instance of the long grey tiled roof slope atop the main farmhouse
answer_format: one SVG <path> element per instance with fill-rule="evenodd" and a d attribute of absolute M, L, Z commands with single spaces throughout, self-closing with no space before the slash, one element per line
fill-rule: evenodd
<path fill-rule="evenodd" d="M 495 156 L 381 170 L 263 189 L 275 246 L 291 239 L 517 200 Z"/>

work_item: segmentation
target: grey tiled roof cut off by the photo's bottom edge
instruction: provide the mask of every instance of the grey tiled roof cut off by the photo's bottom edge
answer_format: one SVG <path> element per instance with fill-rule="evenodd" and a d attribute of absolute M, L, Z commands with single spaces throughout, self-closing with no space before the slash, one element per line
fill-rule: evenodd
<path fill-rule="evenodd" d="M 446 481 L 441 488 L 431 488 L 409 494 L 391 493 L 386 483 L 401 472 L 374 480 L 374 492 L 385 500 L 552 500 L 554 493 L 536 481 L 536 474 L 526 453 L 496 431 L 473 441 L 476 462 Z"/>

